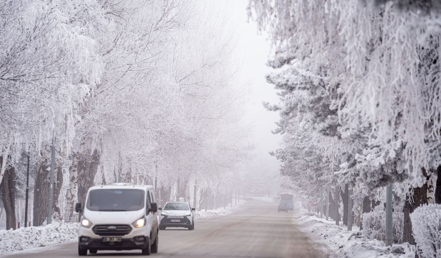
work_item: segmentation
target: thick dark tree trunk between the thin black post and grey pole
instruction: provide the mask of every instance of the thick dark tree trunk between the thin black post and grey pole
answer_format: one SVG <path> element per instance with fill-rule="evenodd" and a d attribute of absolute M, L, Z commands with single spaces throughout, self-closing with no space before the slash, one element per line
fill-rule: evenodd
<path fill-rule="evenodd" d="M 49 170 L 47 160 L 37 166 L 34 185 L 33 225 L 41 226 L 45 222 L 49 204 Z"/>

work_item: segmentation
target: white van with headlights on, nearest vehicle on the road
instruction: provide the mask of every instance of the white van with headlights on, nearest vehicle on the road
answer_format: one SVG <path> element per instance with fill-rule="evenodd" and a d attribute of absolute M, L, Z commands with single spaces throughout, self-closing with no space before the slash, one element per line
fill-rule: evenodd
<path fill-rule="evenodd" d="M 115 183 L 97 185 L 87 192 L 86 205 L 77 203 L 80 214 L 78 255 L 98 250 L 141 249 L 158 251 L 158 216 L 151 185 Z"/>

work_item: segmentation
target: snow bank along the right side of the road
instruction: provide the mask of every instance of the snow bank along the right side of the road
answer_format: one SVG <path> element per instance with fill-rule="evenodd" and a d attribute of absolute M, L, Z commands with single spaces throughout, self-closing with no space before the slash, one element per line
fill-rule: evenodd
<path fill-rule="evenodd" d="M 354 226 L 352 231 L 347 231 L 346 226 L 337 226 L 333 220 L 318 218 L 316 213 L 306 209 L 297 210 L 295 223 L 300 226 L 300 230 L 308 233 L 312 240 L 327 246 L 333 252 L 329 253 L 330 257 L 415 257 L 413 245 L 404 243 L 393 244 L 392 248 L 387 247 L 383 241 L 365 238 L 358 227 Z"/>

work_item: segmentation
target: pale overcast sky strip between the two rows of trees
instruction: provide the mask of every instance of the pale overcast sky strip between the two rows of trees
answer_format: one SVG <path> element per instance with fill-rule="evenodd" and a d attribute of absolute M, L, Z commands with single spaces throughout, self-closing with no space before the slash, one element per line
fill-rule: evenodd
<path fill-rule="evenodd" d="M 267 111 L 263 101 L 276 103 L 276 92 L 265 76 L 271 72 L 265 63 L 271 56 L 271 44 L 266 35 L 259 34 L 256 24 L 248 22 L 248 0 L 211 0 L 212 7 L 222 12 L 228 19 L 226 26 L 231 27 L 231 32 L 237 34 L 237 49 L 235 58 L 242 63 L 238 71 L 239 84 L 248 85 L 250 92 L 246 103 L 246 117 L 254 124 L 252 134 L 255 143 L 256 165 L 269 169 L 272 175 L 278 174 L 279 163 L 268 152 L 278 148 L 282 137 L 273 135 L 278 113 Z M 258 164 L 259 163 L 259 164 Z"/>

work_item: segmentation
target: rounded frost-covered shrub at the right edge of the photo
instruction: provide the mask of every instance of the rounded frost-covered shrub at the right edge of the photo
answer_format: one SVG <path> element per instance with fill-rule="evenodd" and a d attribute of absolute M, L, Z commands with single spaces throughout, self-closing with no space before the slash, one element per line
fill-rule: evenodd
<path fill-rule="evenodd" d="M 420 206 L 410 214 L 413 237 L 421 257 L 441 257 L 441 205 Z"/>

